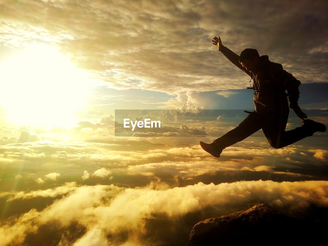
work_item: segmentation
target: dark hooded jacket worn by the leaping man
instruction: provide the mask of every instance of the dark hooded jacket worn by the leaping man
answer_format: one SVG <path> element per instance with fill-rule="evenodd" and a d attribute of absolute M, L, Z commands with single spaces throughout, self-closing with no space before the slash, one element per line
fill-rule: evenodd
<path fill-rule="evenodd" d="M 297 106 L 298 86 L 301 82 L 291 73 L 286 72 L 281 64 L 271 62 L 268 55 L 262 55 L 259 69 L 256 72 L 249 72 L 239 63 L 239 55 L 225 46 L 220 47 L 219 51 L 253 79 L 255 91 L 253 101 L 257 113 L 289 114 L 289 107 L 293 109 Z"/>

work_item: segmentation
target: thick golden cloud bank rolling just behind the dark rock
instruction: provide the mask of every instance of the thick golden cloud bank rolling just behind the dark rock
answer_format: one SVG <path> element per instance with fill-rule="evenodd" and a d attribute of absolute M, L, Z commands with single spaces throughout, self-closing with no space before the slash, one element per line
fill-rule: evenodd
<path fill-rule="evenodd" d="M 165 183 L 158 181 L 133 189 L 113 185 L 76 187 L 72 183 L 52 191 L 35 192 L 34 196 L 53 197 L 60 193 L 68 195 L 54 201 L 42 211 L 32 209 L 13 223 L 3 224 L 0 229 L 1 245 L 9 242 L 21 244 L 27 234 L 37 233 L 40 226 L 53 221 L 60 228 L 65 228 L 74 221 L 86 228 L 86 233 L 74 245 L 90 245 L 90 240 L 101 245 L 143 245 L 144 218 L 156 219 L 159 214 L 174 220 L 209 206 L 216 206 L 218 213 L 225 213 L 228 205 L 237 210 L 259 201 L 289 213 L 304 211 L 312 204 L 328 206 L 327 181 L 279 183 L 258 180 L 218 185 L 198 183 L 173 189 L 167 189 Z M 24 196 L 24 199 L 34 196 Z M 120 243 L 115 242 L 115 237 L 108 236 L 118 235 L 122 231 L 126 231 L 127 236 Z M 64 239 L 65 237 L 60 240 L 59 245 Z M 148 242 L 147 245 L 155 243 Z"/>

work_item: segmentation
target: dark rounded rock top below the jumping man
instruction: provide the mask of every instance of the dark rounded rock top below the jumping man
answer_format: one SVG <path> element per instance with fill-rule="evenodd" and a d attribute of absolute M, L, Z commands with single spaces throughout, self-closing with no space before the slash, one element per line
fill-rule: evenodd
<path fill-rule="evenodd" d="M 187 246 L 203 245 L 313 245 L 306 224 L 257 204 L 221 217 L 198 222 Z"/>

